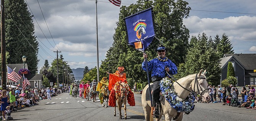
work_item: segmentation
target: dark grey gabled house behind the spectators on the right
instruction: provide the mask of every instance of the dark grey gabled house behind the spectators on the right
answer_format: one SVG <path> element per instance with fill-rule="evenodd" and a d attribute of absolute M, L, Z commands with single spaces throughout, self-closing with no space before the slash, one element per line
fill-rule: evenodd
<path fill-rule="evenodd" d="M 220 58 L 222 68 L 220 81 L 227 78 L 228 62 L 232 62 L 237 78 L 237 86 L 256 85 L 256 53 L 250 54 L 224 54 Z"/>

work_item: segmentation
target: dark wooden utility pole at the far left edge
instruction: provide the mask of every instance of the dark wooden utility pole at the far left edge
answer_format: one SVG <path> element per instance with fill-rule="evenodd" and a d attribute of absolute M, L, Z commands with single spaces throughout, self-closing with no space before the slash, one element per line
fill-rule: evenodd
<path fill-rule="evenodd" d="M 5 57 L 5 0 L 1 0 L 1 71 L 2 89 L 6 90 L 6 57 Z"/>

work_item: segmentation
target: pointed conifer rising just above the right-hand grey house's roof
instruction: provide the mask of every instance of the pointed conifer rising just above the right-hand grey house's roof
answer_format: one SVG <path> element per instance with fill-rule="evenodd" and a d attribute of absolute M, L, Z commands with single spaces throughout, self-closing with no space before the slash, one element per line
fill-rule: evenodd
<path fill-rule="evenodd" d="M 220 43 L 217 45 L 217 50 L 220 57 L 223 57 L 224 54 L 234 53 L 233 46 L 225 33 L 223 33 Z"/>

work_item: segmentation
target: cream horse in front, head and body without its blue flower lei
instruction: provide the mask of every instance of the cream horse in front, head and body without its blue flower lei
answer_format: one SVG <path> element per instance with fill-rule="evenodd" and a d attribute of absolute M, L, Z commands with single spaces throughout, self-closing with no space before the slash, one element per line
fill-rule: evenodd
<path fill-rule="evenodd" d="M 211 97 L 209 96 L 209 92 L 207 91 L 207 81 L 206 81 L 206 70 L 203 72 L 203 69 L 198 74 L 192 74 L 188 75 L 186 77 L 183 77 L 179 80 L 177 80 L 176 83 L 173 83 L 173 87 L 175 88 L 176 93 L 178 96 L 185 100 L 186 97 L 192 92 L 196 92 L 196 94 L 200 94 L 201 97 L 203 97 L 203 101 L 210 101 Z M 180 84 L 180 85 L 179 85 Z M 171 85 L 170 85 L 171 86 Z M 183 86 L 183 87 L 181 87 Z M 143 89 L 142 95 L 141 95 L 141 102 L 145 114 L 146 121 L 153 121 L 153 116 L 151 115 L 151 102 L 146 101 L 146 90 L 148 88 L 148 85 Z M 183 118 L 183 112 L 181 112 L 179 115 L 177 113 L 177 110 L 175 108 L 170 107 L 169 102 L 167 102 L 165 99 L 164 101 L 161 101 L 162 109 L 159 110 L 160 115 L 159 118 L 156 119 L 156 121 L 160 121 L 162 115 L 165 116 L 165 121 L 171 121 L 173 117 L 178 117 L 176 120 L 181 121 Z"/>

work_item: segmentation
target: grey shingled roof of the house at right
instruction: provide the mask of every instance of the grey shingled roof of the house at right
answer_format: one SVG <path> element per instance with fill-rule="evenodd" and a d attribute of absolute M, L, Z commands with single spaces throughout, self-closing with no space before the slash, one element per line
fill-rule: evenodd
<path fill-rule="evenodd" d="M 224 54 L 224 57 L 233 56 L 236 58 L 246 70 L 255 70 L 256 69 L 256 53 L 248 54 Z"/>

